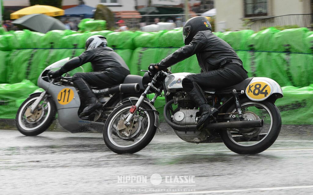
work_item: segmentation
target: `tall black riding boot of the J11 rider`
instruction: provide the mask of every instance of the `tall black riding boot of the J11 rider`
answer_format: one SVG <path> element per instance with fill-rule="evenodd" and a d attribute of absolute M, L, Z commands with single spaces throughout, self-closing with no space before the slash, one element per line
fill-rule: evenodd
<path fill-rule="evenodd" d="M 73 83 L 88 101 L 87 107 L 82 111 L 82 113 L 80 113 L 80 116 L 88 116 L 102 106 L 102 104 L 99 102 L 98 98 L 92 92 L 90 86 L 85 82 L 84 79 L 75 78 L 73 80 Z"/>

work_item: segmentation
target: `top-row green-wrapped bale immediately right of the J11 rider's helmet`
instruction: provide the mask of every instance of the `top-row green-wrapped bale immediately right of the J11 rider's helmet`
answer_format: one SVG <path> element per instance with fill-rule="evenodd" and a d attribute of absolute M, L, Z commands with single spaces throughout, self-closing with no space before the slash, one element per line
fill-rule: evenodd
<path fill-rule="evenodd" d="M 112 49 L 134 49 L 133 39 L 135 36 L 135 32 L 123 31 L 109 33 L 106 38 L 108 40 L 108 46 Z"/>

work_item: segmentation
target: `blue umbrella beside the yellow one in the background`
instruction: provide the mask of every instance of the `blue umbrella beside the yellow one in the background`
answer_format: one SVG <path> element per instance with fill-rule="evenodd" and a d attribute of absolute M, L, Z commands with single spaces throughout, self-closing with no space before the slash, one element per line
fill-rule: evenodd
<path fill-rule="evenodd" d="M 65 9 L 65 17 L 83 17 L 83 18 L 91 18 L 94 16 L 95 10 L 94 7 L 90 7 L 87 5 L 78 5 L 76 7 L 71 7 L 69 9 Z"/>

